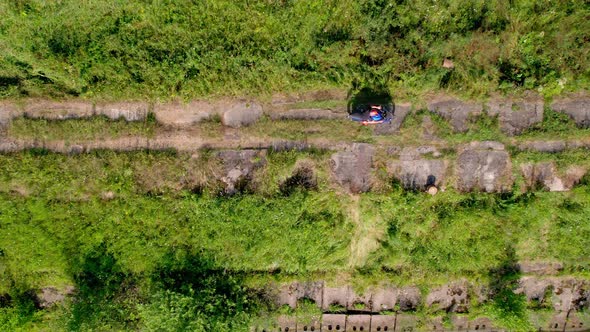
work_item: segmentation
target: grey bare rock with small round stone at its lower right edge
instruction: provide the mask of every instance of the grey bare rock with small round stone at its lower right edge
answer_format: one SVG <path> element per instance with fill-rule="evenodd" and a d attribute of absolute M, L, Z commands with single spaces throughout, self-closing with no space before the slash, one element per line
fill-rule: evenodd
<path fill-rule="evenodd" d="M 422 150 L 430 150 L 421 147 Z M 441 187 L 446 178 L 448 161 L 440 159 L 424 159 L 421 148 L 406 148 L 401 152 L 399 161 L 391 161 L 387 165 L 388 172 L 401 182 L 402 187 L 409 190 L 427 190 L 431 186 Z M 435 149 L 433 155 L 438 154 Z"/>

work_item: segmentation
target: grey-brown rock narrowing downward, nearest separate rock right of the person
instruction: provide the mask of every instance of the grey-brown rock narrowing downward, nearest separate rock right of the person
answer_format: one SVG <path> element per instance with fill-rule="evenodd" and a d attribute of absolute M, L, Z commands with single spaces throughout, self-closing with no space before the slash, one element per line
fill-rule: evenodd
<path fill-rule="evenodd" d="M 465 132 L 469 129 L 469 119 L 482 114 L 483 107 L 479 103 L 444 97 L 429 102 L 428 110 L 448 120 L 456 132 Z"/>

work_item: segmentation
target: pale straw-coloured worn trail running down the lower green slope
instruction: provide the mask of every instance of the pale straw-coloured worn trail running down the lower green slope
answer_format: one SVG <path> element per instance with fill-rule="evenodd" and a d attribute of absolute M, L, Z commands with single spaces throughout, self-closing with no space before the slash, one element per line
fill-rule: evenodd
<path fill-rule="evenodd" d="M 350 243 L 348 266 L 356 268 L 364 266 L 369 255 L 379 248 L 379 240 L 385 234 L 387 225 L 378 216 L 363 214 L 359 195 L 351 195 L 350 198 L 348 208 L 350 220 L 354 224 L 354 233 Z"/>

